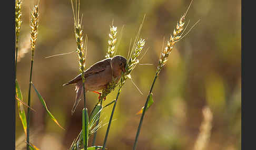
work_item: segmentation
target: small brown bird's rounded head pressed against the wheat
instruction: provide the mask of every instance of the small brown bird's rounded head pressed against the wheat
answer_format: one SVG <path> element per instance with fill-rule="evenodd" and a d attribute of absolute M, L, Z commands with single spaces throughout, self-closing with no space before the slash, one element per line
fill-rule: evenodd
<path fill-rule="evenodd" d="M 113 68 L 122 70 L 123 73 L 125 72 L 126 61 L 126 58 L 120 55 L 113 57 L 111 60 Z"/>

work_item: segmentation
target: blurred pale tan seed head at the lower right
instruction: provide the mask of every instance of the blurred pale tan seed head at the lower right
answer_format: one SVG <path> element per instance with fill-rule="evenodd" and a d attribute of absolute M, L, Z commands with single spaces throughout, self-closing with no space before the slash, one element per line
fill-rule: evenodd
<path fill-rule="evenodd" d="M 205 106 L 202 112 L 203 112 L 203 121 L 200 126 L 200 133 L 194 145 L 194 150 L 205 149 L 211 136 L 212 111 L 208 106 Z"/>

